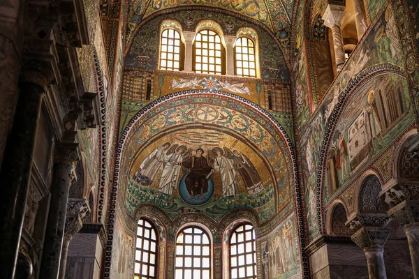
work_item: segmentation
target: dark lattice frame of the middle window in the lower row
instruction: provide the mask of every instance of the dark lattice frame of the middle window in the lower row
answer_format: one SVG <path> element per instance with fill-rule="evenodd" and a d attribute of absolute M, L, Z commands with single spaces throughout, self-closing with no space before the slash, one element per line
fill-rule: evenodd
<path fill-rule="evenodd" d="M 191 233 L 189 233 L 189 232 L 185 233 L 186 229 L 192 229 L 192 232 Z M 200 244 L 194 243 L 195 242 L 194 237 L 196 235 L 198 235 L 198 234 L 195 234 L 195 229 L 199 229 L 202 232 L 202 234 L 200 234 L 200 240 L 201 240 Z M 183 239 L 182 243 L 177 242 L 177 239 L 179 238 L 179 234 L 184 234 L 184 236 L 183 236 L 184 239 Z M 186 235 L 191 235 L 192 236 L 192 239 L 193 239 L 192 243 L 186 243 L 186 241 L 185 241 L 185 236 Z M 203 239 L 204 235 L 207 236 L 208 244 L 202 243 L 202 239 Z M 175 279 L 179 279 L 179 278 L 177 278 L 177 270 L 178 269 L 182 270 L 182 279 L 185 278 L 185 270 L 186 269 L 191 269 L 191 278 L 194 278 L 193 271 L 198 270 L 198 269 L 200 270 L 200 278 L 201 279 L 204 278 L 203 277 L 203 271 L 204 270 L 207 270 L 208 274 L 209 274 L 209 277 L 205 278 L 205 279 L 212 278 L 212 257 L 213 257 L 213 255 L 212 255 L 212 239 L 210 237 L 210 234 L 203 227 L 200 227 L 200 226 L 197 226 L 197 225 L 188 225 L 186 227 L 183 227 L 176 234 L 176 242 L 175 243 L 176 243 L 175 244 L 175 269 L 174 269 L 174 271 L 175 271 L 174 278 Z M 191 250 L 191 255 L 186 255 L 185 248 L 184 248 L 186 245 L 192 247 L 191 248 L 192 249 Z M 182 246 L 182 249 L 183 249 L 182 255 L 178 255 L 178 253 L 177 253 L 177 247 L 178 246 Z M 200 247 L 200 255 L 194 255 L 194 250 L 195 250 L 194 248 L 196 246 Z M 203 255 L 203 248 L 204 247 L 208 248 L 208 250 L 209 250 L 208 255 Z M 182 266 L 177 266 L 177 258 L 178 257 L 182 257 Z M 191 267 L 185 266 L 185 258 L 186 257 L 191 257 Z M 200 259 L 200 267 L 195 267 L 194 266 L 195 265 L 194 264 L 194 259 L 196 259 L 196 258 Z M 203 264 L 202 264 L 204 258 L 208 259 L 209 264 L 208 264 L 207 268 L 204 268 Z M 190 278 L 187 278 L 187 279 L 190 279 Z"/>

